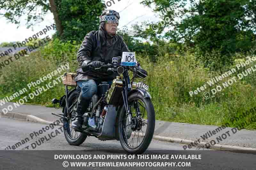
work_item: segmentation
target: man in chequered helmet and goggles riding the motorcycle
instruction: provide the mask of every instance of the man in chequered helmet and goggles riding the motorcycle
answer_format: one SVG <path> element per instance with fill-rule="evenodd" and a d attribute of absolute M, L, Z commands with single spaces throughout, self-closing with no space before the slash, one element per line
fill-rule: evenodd
<path fill-rule="evenodd" d="M 75 81 L 81 88 L 81 93 L 74 108 L 76 114 L 71 123 L 72 128 L 76 130 L 82 130 L 83 114 L 89 107 L 92 96 L 97 93 L 97 85 L 102 81 L 107 81 L 111 85 L 116 77 L 115 73 L 109 75 L 104 72 L 105 70 L 89 68 L 99 68 L 104 63 L 112 63 L 112 57 L 130 52 L 122 36 L 116 34 L 119 18 L 119 13 L 114 10 L 104 11 L 100 16 L 99 31 L 87 33 L 77 52 L 79 67 L 76 70 Z M 88 67 L 84 68 L 84 66 Z M 148 75 L 147 71 L 140 66 L 138 69 Z"/>

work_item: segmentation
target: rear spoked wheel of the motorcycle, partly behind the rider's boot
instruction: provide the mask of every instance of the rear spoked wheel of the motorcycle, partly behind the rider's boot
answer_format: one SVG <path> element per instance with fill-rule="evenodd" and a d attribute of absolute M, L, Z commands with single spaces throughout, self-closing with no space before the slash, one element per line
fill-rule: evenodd
<path fill-rule="evenodd" d="M 72 103 L 74 103 L 78 97 L 79 97 L 79 93 L 76 90 L 72 92 L 68 97 L 68 106 L 71 106 Z M 73 114 L 74 114 L 73 108 L 71 108 L 70 111 L 73 117 Z M 68 116 L 67 107 L 65 107 L 64 116 L 66 117 Z M 64 123 L 63 123 L 64 135 L 69 144 L 79 146 L 85 141 L 87 135 L 85 133 L 75 131 L 75 129 L 71 127 L 71 122 L 72 122 L 71 119 L 69 119 L 68 121 L 64 119 Z"/>

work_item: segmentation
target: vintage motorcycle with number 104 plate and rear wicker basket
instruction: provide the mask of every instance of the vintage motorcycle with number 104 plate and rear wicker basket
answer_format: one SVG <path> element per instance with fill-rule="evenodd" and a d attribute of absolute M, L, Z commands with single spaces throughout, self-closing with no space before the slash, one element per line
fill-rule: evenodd
<path fill-rule="evenodd" d="M 52 100 L 53 104 L 63 107 L 63 114 L 52 114 L 64 118 L 63 130 L 69 144 L 78 146 L 87 136 L 94 136 L 103 141 L 119 140 L 123 149 L 130 154 L 141 154 L 147 150 L 155 129 L 155 110 L 151 95 L 147 92 L 148 85 L 133 82 L 134 78 L 144 75 L 135 67 L 138 64 L 135 54 L 124 53 L 122 57 L 113 57 L 112 63 L 98 68 L 105 68 L 118 76 L 111 86 L 107 82 L 98 85 L 98 93 L 92 96 L 83 115 L 83 131 L 75 131 L 71 127 L 80 87 L 74 82 L 75 73 L 65 73 L 65 95 L 60 100 Z M 131 79 L 129 72 L 133 73 Z M 68 86 L 73 87 L 68 90 Z"/>

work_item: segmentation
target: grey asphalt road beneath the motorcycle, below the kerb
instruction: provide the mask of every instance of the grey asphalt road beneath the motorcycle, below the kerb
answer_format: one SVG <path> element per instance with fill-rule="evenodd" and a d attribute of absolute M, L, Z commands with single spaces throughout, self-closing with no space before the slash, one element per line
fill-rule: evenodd
<path fill-rule="evenodd" d="M 254 170 L 256 169 L 255 158 L 253 154 L 243 154 L 224 151 L 183 151 L 180 144 L 168 143 L 163 141 L 152 140 L 145 154 L 196 154 L 202 155 L 200 160 L 172 160 L 173 162 L 191 162 L 191 167 L 76 167 L 64 168 L 63 159 L 54 159 L 54 155 L 58 154 L 79 154 L 79 155 L 94 155 L 94 154 L 125 154 L 119 141 L 100 141 L 95 137 L 87 137 L 85 142 L 80 146 L 69 145 L 61 132 L 61 127 L 56 126 L 54 129 L 49 129 L 37 137 L 31 139 L 31 133 L 38 132 L 40 129 L 47 126 L 46 124 L 25 122 L 8 118 L 0 118 L 0 170 L 5 169 L 197 169 L 197 170 Z M 59 131 L 60 133 L 55 133 Z M 41 137 L 53 132 L 54 136 L 43 144 L 37 145 L 32 149 L 31 144 L 36 143 Z M 15 145 L 19 141 L 28 138 L 29 141 L 17 146 L 15 151 L 4 150 L 6 147 Z M 21 150 L 29 146 L 28 150 Z M 196 148 L 193 148 L 196 150 Z M 45 151 L 47 150 L 47 151 Z M 98 159 L 99 160 L 99 159 Z M 140 161 L 152 161 L 140 159 Z M 70 160 L 68 160 L 70 161 Z M 73 161 L 73 160 L 72 160 Z M 77 161 L 77 160 L 75 160 Z M 83 159 L 83 161 L 85 161 Z M 95 160 L 94 160 L 95 161 Z M 101 160 L 102 161 L 102 160 Z M 104 161 L 104 160 L 103 160 Z M 106 161 L 106 160 L 105 160 Z M 109 161 L 109 160 L 108 160 Z M 118 161 L 118 159 L 112 160 Z M 119 160 L 120 161 L 120 160 Z M 127 160 L 122 160 L 127 161 Z M 163 162 L 166 160 L 154 161 Z"/>

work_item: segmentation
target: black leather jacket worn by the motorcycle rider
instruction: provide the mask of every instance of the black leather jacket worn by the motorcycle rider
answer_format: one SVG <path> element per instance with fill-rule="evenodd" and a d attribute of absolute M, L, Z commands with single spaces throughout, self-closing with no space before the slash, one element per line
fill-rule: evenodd
<path fill-rule="evenodd" d="M 93 61 L 101 61 L 105 64 L 111 63 L 112 58 L 122 56 L 123 52 L 130 52 L 121 35 L 116 34 L 109 37 L 105 31 L 105 23 L 101 23 L 99 31 L 91 31 L 84 37 L 80 49 L 77 52 L 79 67 L 76 70 L 75 81 L 88 79 L 113 79 L 115 74 L 109 76 L 107 73 L 94 70 L 84 72 L 81 68 L 82 63 L 86 65 Z"/>

